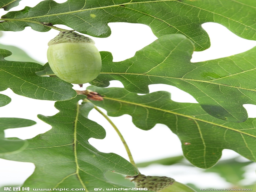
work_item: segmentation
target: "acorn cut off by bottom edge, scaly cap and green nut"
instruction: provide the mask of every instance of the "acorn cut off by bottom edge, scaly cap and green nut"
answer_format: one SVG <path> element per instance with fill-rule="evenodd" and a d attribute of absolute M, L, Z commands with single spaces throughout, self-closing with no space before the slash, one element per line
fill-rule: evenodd
<path fill-rule="evenodd" d="M 195 192 L 194 189 L 177 182 L 170 177 L 146 176 L 139 174 L 131 181 L 134 181 L 136 188 L 148 188 L 148 191 Z"/>

